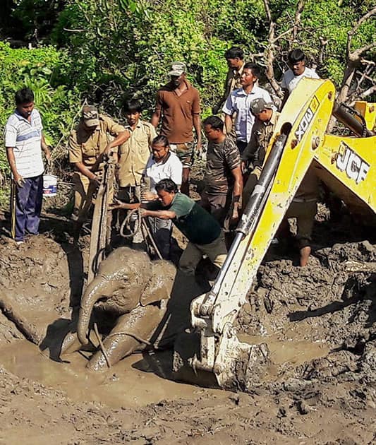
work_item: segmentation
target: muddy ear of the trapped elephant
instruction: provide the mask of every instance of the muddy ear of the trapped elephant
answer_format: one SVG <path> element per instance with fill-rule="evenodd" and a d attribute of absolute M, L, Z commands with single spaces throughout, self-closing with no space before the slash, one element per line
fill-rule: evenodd
<path fill-rule="evenodd" d="M 173 263 L 165 260 L 153 261 L 152 276 L 140 298 L 141 306 L 160 302 L 162 299 L 169 299 L 175 275 L 176 267 Z"/>

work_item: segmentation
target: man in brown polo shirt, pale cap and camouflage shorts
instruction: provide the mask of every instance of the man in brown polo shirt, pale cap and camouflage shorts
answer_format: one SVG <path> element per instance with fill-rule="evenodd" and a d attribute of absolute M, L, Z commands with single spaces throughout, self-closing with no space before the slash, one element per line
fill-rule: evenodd
<path fill-rule="evenodd" d="M 189 174 L 193 163 L 193 131 L 201 148 L 200 95 L 186 78 L 186 64 L 173 62 L 171 81 L 158 90 L 152 124 L 157 127 L 162 116 L 161 134 L 169 140 L 183 164 L 181 192 L 189 194 Z"/>

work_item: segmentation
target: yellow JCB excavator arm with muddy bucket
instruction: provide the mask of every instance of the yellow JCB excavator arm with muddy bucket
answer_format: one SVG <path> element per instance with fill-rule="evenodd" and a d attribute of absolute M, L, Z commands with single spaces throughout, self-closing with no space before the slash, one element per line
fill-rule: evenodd
<path fill-rule="evenodd" d="M 219 386 L 246 381 L 267 355 L 262 345 L 241 343 L 234 320 L 257 269 L 308 168 L 362 220 L 375 218 L 375 104 L 358 102 L 351 113 L 335 104 L 331 81 L 303 78 L 281 112 L 260 180 L 236 229 L 212 290 L 193 300 L 192 331 L 199 350 L 188 359 L 195 372 L 210 372 Z M 325 131 L 334 115 L 354 136 Z"/>

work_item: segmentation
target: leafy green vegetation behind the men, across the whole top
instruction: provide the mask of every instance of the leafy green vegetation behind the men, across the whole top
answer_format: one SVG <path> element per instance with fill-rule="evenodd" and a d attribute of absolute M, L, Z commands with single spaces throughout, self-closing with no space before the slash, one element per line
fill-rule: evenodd
<path fill-rule="evenodd" d="M 200 90 L 205 117 L 222 92 L 223 54 L 232 45 L 262 66 L 272 47 L 277 80 L 289 49 L 302 47 L 320 74 L 340 88 L 348 31 L 372 6 L 372 0 L 6 0 L 9 20 L 1 19 L 0 35 L 31 43 L 32 49 L 0 42 L 0 125 L 23 85 L 35 91 L 53 145 L 64 141 L 85 98 L 121 119 L 123 100 L 140 97 L 150 115 L 157 88 L 166 82 L 171 61 L 179 59 Z M 373 18 L 360 25 L 351 49 L 374 41 Z M 365 55 L 371 61 L 375 56 Z M 364 72 L 362 64 L 356 69 Z M 363 82 L 368 88 L 372 78 Z M 0 167 L 6 167 L 3 150 Z"/>

